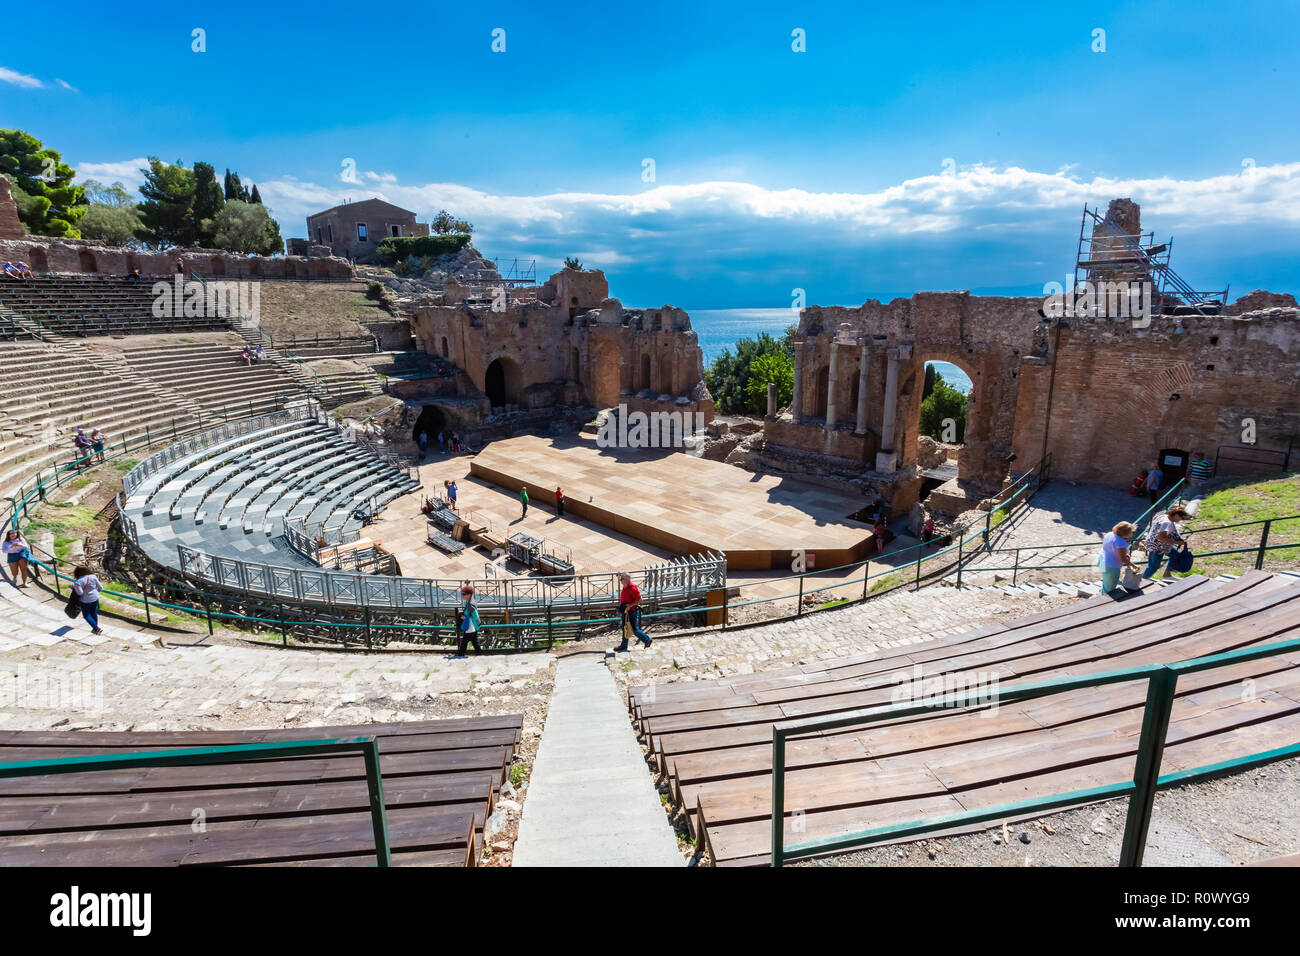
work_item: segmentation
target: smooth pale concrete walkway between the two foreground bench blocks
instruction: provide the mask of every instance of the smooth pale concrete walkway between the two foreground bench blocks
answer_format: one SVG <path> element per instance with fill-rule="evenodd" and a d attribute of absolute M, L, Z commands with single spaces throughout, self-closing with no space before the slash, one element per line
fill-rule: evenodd
<path fill-rule="evenodd" d="M 685 865 L 604 662 L 555 667 L 514 865 Z"/>

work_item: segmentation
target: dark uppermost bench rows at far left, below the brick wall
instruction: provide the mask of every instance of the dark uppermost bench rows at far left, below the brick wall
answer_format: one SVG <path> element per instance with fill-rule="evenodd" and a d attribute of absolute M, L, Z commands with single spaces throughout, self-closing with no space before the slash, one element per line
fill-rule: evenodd
<path fill-rule="evenodd" d="M 126 336 L 228 328 L 208 316 L 157 317 L 153 281 L 116 276 L 38 276 L 0 282 L 0 307 L 56 334 Z"/>

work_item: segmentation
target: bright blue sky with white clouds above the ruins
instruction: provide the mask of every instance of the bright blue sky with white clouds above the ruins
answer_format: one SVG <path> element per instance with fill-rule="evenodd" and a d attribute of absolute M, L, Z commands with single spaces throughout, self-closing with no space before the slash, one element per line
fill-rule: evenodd
<path fill-rule="evenodd" d="M 66 56 L 0 38 L 0 126 L 127 185 L 151 155 L 230 166 L 286 237 L 382 195 L 447 207 L 485 254 L 540 272 L 576 254 L 627 304 L 857 304 L 1041 291 L 1070 268 L 1080 206 L 1132 196 L 1193 285 L 1300 291 L 1294 4 L 58 16 L 78 25 Z"/>

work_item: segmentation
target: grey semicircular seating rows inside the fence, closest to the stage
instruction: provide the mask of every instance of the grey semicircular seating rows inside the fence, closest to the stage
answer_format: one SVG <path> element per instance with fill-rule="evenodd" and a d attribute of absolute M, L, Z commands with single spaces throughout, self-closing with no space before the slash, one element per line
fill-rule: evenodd
<path fill-rule="evenodd" d="M 285 522 L 360 531 L 419 483 L 313 418 L 289 418 L 190 451 L 140 480 L 124 515 L 142 550 L 179 568 L 177 545 L 283 567 L 316 567 L 285 542 Z"/>

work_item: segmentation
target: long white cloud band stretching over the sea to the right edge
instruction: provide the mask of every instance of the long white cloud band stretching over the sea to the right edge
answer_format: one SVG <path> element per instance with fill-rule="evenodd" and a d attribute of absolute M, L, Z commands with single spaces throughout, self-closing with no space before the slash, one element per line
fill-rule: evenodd
<path fill-rule="evenodd" d="M 1187 224 L 1273 221 L 1300 224 L 1300 163 L 1257 166 L 1202 179 L 1080 179 L 1067 169 L 1041 173 L 1019 166 L 975 165 L 948 176 L 923 176 L 871 193 L 815 193 L 767 189 L 746 182 L 660 185 L 642 193 L 551 193 L 498 195 L 459 183 L 402 185 L 391 174 L 365 173 L 376 195 L 421 219 L 447 208 L 480 228 L 551 234 L 584 234 L 593 224 L 608 228 L 685 226 L 692 222 L 777 220 L 793 225 L 838 226 L 863 237 L 942 234 L 963 229 L 1017 230 L 1043 213 L 1132 196 L 1144 212 Z M 276 196 L 282 215 L 304 219 L 356 190 L 272 179 L 263 195 Z M 989 221 L 996 225 L 989 226 Z"/>

